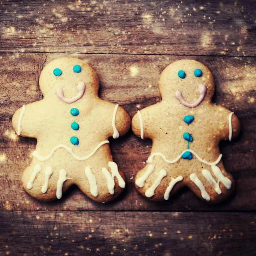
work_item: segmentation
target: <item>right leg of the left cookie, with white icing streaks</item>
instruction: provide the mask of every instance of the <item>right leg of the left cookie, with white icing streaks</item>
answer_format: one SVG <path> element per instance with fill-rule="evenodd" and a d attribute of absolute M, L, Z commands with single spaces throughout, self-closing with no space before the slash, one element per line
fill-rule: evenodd
<path fill-rule="evenodd" d="M 94 201 L 105 203 L 113 200 L 123 191 L 125 175 L 112 161 L 102 168 L 86 166 L 83 178 L 76 185 Z"/>

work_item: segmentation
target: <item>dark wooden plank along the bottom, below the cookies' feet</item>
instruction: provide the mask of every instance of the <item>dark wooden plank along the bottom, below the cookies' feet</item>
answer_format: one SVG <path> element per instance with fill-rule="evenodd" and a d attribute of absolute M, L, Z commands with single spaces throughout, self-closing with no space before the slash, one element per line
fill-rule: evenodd
<path fill-rule="evenodd" d="M 0 253 L 250 256 L 255 221 L 249 212 L 1 212 Z"/>

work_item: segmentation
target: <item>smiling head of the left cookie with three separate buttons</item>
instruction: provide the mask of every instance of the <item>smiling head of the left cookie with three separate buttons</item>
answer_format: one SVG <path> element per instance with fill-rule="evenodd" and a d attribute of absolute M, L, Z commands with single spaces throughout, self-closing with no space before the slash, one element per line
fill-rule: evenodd
<path fill-rule="evenodd" d="M 99 78 L 87 62 L 78 58 L 58 58 L 41 72 L 39 86 L 45 98 L 73 103 L 88 95 L 97 96 Z"/>

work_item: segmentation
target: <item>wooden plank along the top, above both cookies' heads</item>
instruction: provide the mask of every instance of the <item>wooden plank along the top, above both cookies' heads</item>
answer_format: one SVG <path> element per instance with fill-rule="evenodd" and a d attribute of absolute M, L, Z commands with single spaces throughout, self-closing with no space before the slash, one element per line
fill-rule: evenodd
<path fill-rule="evenodd" d="M 256 2 L 3 1 L 2 52 L 255 56 Z"/>

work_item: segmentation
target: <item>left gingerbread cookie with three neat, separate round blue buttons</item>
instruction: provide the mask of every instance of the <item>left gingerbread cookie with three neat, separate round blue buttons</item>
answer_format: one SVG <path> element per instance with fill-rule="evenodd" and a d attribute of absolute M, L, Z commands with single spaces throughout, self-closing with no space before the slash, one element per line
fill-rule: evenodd
<path fill-rule="evenodd" d="M 95 201 L 116 198 L 125 175 L 113 162 L 108 138 L 128 131 L 128 114 L 99 98 L 95 70 L 78 58 L 51 61 L 39 85 L 44 99 L 23 105 L 12 118 L 18 135 L 37 139 L 22 175 L 26 192 L 52 201 L 75 184 Z"/>

